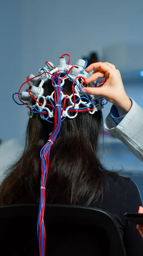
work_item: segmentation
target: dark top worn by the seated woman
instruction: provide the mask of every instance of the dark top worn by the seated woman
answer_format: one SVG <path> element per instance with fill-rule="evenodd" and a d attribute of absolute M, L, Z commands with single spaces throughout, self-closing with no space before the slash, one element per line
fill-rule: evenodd
<path fill-rule="evenodd" d="M 143 256 L 143 238 L 136 224 L 125 221 L 125 212 L 138 212 L 142 206 L 140 192 L 135 183 L 126 177 L 107 175 L 109 189 L 104 192 L 101 204 L 94 207 L 110 212 L 116 218 L 127 256 Z"/>

